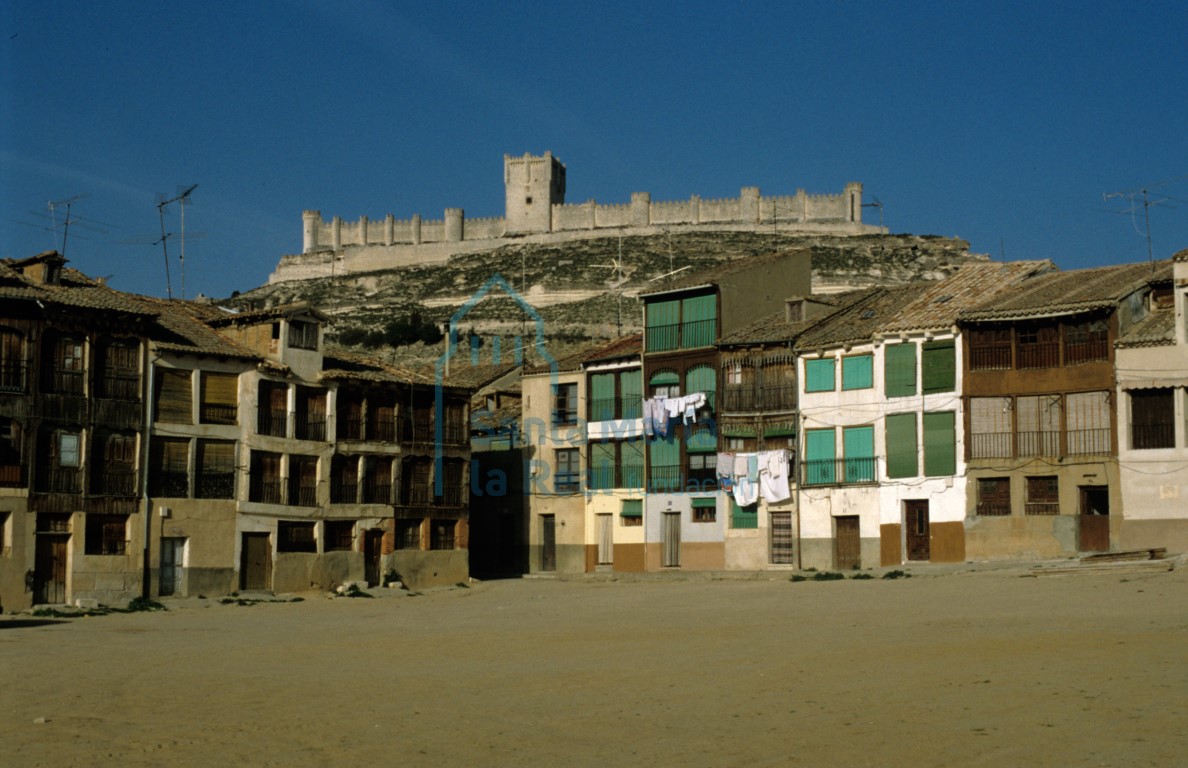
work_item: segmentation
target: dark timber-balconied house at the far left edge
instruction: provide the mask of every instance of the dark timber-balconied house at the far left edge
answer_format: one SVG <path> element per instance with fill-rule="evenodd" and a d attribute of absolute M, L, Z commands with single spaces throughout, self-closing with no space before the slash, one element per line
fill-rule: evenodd
<path fill-rule="evenodd" d="M 0 263 L 0 605 L 141 591 L 137 301 L 49 251 Z"/>

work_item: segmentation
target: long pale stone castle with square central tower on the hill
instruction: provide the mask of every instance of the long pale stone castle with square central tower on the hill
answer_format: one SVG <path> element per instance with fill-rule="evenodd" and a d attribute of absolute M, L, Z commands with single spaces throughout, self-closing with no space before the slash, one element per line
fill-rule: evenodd
<path fill-rule="evenodd" d="M 461 208 L 447 208 L 444 219 L 383 221 L 362 216 L 324 221 L 318 210 L 302 214 L 299 254 L 285 256 L 268 283 L 367 272 L 415 264 L 443 263 L 459 253 L 489 251 L 512 243 L 565 243 L 608 235 L 659 234 L 678 231 L 779 232 L 789 234 L 885 234 L 862 224 L 862 185 L 846 184 L 840 195 L 764 197 L 758 187 L 744 187 L 738 197 L 652 202 L 649 193 L 632 193 L 623 204 L 565 202 L 565 166 L 545 152 L 504 156 L 505 214 L 467 219 Z"/>

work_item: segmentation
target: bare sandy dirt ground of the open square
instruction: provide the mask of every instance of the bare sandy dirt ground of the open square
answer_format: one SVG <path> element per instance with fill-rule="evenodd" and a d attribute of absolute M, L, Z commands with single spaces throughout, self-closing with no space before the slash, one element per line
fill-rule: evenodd
<path fill-rule="evenodd" d="M 909 572 L 5 616 L 0 764 L 1188 764 L 1183 566 Z"/>

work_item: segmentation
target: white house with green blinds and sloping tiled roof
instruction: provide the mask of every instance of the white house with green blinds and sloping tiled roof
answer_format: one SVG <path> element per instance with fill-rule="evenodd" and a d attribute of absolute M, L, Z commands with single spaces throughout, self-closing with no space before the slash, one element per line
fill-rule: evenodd
<path fill-rule="evenodd" d="M 871 289 L 800 335 L 803 567 L 965 559 L 958 315 L 1049 269 L 975 263 Z"/>

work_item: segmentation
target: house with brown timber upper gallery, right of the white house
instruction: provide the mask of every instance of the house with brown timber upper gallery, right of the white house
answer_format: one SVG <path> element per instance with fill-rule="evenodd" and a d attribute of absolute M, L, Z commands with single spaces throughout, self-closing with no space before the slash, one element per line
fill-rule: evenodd
<path fill-rule="evenodd" d="M 1170 288 L 1155 287 L 1170 283 L 1167 262 L 1051 271 L 960 313 L 968 558 L 1069 556 L 1123 541 L 1119 442 L 1129 441 L 1130 472 L 1146 440 L 1165 437 L 1157 429 L 1123 437 L 1118 424 L 1132 428 L 1136 414 L 1148 423 L 1149 394 L 1175 386 L 1161 385 L 1162 358 L 1142 345 L 1126 354 L 1143 367 L 1119 376 L 1117 345 L 1143 339 L 1152 313 L 1169 317 L 1158 304 Z M 1150 483 L 1132 478 L 1133 498 Z"/>

